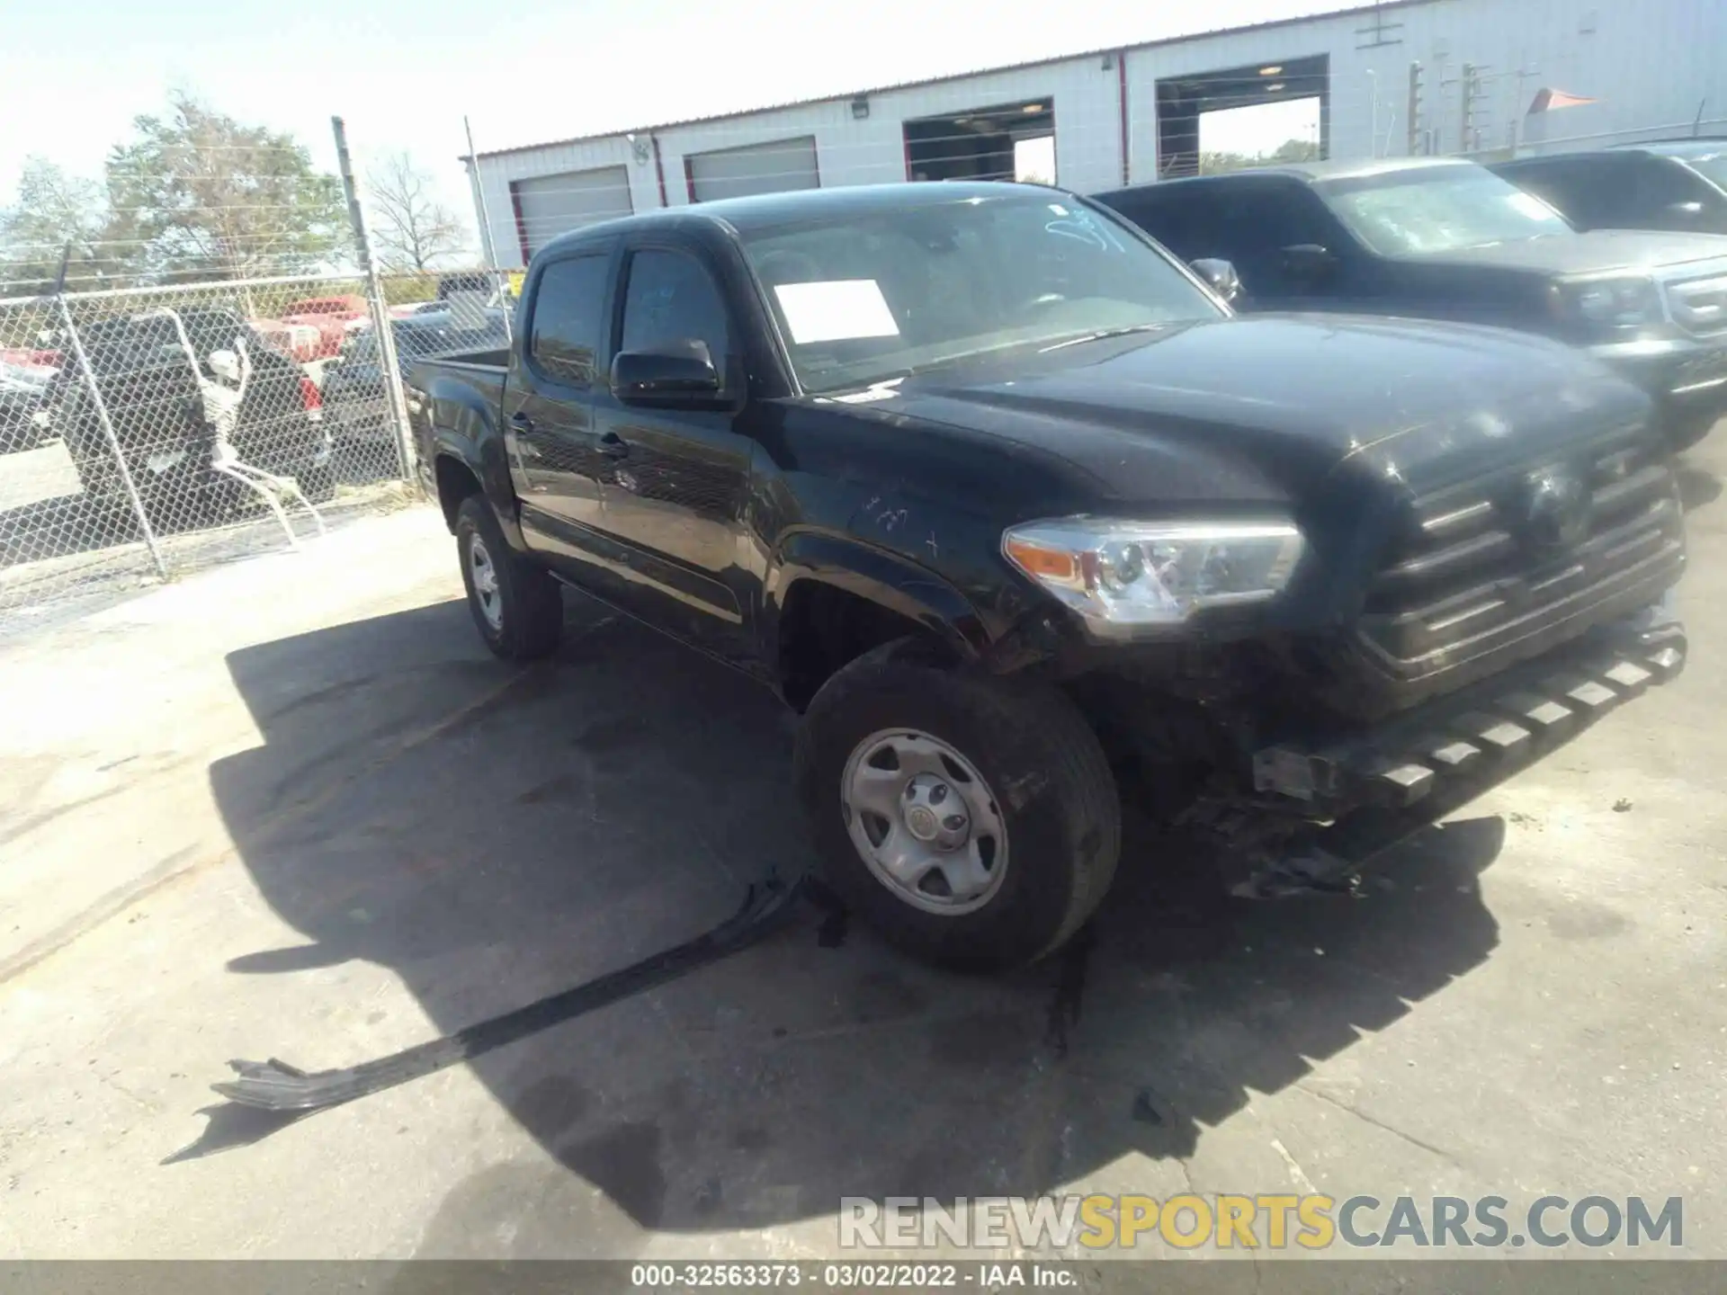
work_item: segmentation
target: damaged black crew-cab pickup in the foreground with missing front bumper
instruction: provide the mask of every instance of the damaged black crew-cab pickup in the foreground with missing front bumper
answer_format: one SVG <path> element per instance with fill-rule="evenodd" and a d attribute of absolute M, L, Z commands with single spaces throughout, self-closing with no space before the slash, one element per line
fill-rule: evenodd
<path fill-rule="evenodd" d="M 551 653 L 566 582 L 777 689 L 831 889 L 952 965 L 1067 939 L 1123 796 L 1237 889 L 1319 882 L 1684 661 L 1635 387 L 1525 333 L 1238 319 L 1069 193 L 592 226 L 513 337 L 409 370 L 485 642 Z"/>

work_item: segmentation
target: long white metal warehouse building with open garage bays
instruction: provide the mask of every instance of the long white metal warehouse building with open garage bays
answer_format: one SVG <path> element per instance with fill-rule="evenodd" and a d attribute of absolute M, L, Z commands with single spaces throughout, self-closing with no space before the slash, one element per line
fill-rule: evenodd
<path fill-rule="evenodd" d="M 468 174 L 490 254 L 522 266 L 566 230 L 743 193 L 957 178 L 1085 193 L 1192 174 L 1209 123 L 1273 105 L 1306 123 L 1295 147 L 1338 159 L 1720 133 L 1727 3 L 1387 0 L 485 152 Z"/>

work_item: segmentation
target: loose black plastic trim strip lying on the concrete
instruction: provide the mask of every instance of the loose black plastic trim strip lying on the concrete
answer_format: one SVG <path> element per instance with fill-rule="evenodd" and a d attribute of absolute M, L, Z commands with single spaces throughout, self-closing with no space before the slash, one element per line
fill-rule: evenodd
<path fill-rule="evenodd" d="M 775 882 L 751 886 L 734 917 L 684 944 L 675 944 L 585 984 L 563 989 L 440 1039 L 418 1043 L 390 1057 L 363 1062 L 345 1071 L 318 1071 L 314 1074 L 276 1058 L 228 1062 L 238 1077 L 211 1084 L 211 1088 L 244 1107 L 280 1112 L 323 1110 L 382 1093 L 632 995 L 655 989 L 732 953 L 741 953 L 777 931 L 805 889 L 801 877 L 789 888 Z"/>

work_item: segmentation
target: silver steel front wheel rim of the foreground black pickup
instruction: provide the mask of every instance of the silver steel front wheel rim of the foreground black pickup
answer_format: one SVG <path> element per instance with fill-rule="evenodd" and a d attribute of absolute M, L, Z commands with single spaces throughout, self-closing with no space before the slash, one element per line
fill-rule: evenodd
<path fill-rule="evenodd" d="M 903 903 L 962 917 L 1007 875 L 1007 822 L 977 767 L 939 737 L 882 729 L 839 777 L 846 832 L 870 874 Z"/>

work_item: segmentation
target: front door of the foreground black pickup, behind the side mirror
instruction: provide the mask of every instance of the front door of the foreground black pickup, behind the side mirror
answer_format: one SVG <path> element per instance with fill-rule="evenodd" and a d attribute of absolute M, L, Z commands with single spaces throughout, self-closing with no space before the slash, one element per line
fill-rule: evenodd
<path fill-rule="evenodd" d="M 606 534 L 622 559 L 625 610 L 739 665 L 750 651 L 750 584 L 739 559 L 753 442 L 739 426 L 739 332 L 693 250 L 639 237 L 625 249 L 618 351 L 701 342 L 722 375 L 715 407 L 596 402 Z M 724 407 L 718 407 L 724 406 Z"/>

